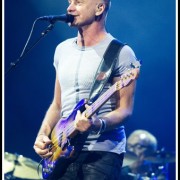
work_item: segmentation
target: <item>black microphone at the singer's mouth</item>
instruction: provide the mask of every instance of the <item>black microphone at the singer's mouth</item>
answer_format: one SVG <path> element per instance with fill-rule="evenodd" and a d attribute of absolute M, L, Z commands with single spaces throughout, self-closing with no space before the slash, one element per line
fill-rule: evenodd
<path fill-rule="evenodd" d="M 74 16 L 71 14 L 50 15 L 50 16 L 39 17 L 39 18 L 37 18 L 37 20 L 50 21 L 50 23 L 55 23 L 56 21 L 62 21 L 65 23 L 72 23 L 74 21 Z"/>

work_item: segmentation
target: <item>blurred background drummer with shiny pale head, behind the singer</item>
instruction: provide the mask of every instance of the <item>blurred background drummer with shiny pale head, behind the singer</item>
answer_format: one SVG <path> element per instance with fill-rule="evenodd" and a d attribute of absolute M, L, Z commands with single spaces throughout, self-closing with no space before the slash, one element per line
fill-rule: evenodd
<path fill-rule="evenodd" d="M 133 131 L 127 139 L 127 155 L 125 155 L 120 179 L 157 179 L 158 166 L 146 159 L 153 156 L 156 151 L 157 139 L 153 134 L 142 129 Z M 126 158 L 132 159 L 130 164 L 125 165 Z M 160 176 L 158 179 L 160 179 Z"/>

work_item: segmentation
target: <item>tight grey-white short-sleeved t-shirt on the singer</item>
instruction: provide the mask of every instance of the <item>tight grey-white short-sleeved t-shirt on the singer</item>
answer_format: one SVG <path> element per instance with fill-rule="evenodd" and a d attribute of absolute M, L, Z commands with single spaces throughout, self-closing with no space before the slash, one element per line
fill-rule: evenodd
<path fill-rule="evenodd" d="M 61 103 L 63 118 L 68 117 L 77 103 L 89 98 L 89 93 L 95 78 L 96 71 L 102 60 L 109 43 L 114 39 L 110 34 L 104 40 L 92 47 L 79 47 L 76 38 L 68 39 L 60 43 L 54 54 L 54 66 L 58 74 L 61 86 Z M 133 50 L 125 45 L 119 54 L 112 71 L 114 77 L 121 76 L 131 68 L 131 63 L 137 62 Z M 111 82 L 105 85 L 102 94 L 111 87 Z M 115 109 L 116 99 L 112 96 L 98 111 L 102 117 Z M 125 131 L 121 126 L 113 131 L 104 132 L 101 135 L 90 134 L 83 150 L 110 151 L 115 153 L 125 152 Z"/>

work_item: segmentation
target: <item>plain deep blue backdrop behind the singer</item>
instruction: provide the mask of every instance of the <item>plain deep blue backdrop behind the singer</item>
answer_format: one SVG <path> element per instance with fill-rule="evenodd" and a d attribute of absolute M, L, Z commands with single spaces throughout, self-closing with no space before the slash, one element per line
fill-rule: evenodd
<path fill-rule="evenodd" d="M 58 0 L 6 0 L 4 21 L 4 71 L 16 61 L 27 41 L 34 20 L 66 13 L 67 2 Z M 176 19 L 175 0 L 112 0 L 107 30 L 128 43 L 142 60 L 134 114 L 126 123 L 129 135 L 145 129 L 156 136 L 159 148 L 176 149 Z M 29 46 L 48 23 L 35 24 Z M 4 150 L 39 161 L 33 143 L 52 101 L 56 45 L 76 35 L 76 29 L 57 22 L 17 67 L 5 75 Z M 68 71 L 68 69 L 67 69 Z M 71 73 L 71 72 L 69 72 Z M 175 163 L 169 164 L 175 179 Z"/>

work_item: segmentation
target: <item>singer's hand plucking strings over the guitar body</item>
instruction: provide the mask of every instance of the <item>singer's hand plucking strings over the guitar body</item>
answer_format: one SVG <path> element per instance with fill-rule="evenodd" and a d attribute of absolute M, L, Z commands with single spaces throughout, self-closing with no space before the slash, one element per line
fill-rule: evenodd
<path fill-rule="evenodd" d="M 48 146 L 51 144 L 51 140 L 48 136 L 44 134 L 39 134 L 36 137 L 35 143 L 34 143 L 34 150 L 35 152 L 41 157 L 41 158 L 47 158 L 52 155 L 52 152 L 48 148 Z"/>

